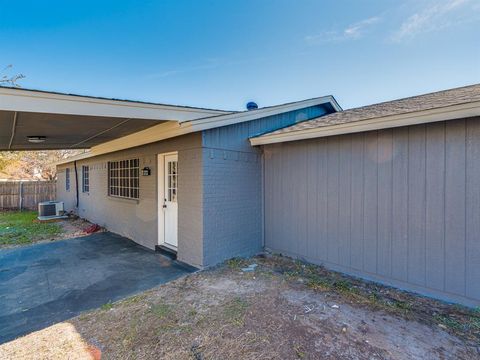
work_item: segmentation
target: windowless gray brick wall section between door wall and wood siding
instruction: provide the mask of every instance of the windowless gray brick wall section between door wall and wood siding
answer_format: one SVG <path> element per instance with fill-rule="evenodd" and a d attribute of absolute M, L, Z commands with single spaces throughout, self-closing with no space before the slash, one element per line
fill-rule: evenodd
<path fill-rule="evenodd" d="M 259 153 L 203 150 L 204 263 L 214 265 L 262 249 L 262 164 Z"/>

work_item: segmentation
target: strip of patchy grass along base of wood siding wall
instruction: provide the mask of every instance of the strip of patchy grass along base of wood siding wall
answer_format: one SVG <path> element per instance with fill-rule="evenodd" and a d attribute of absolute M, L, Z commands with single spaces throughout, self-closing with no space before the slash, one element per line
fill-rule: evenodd
<path fill-rule="evenodd" d="M 261 263 L 262 264 L 262 263 Z M 270 264 L 276 274 L 286 281 L 304 283 L 314 291 L 331 292 L 351 303 L 383 310 L 428 325 L 437 324 L 449 332 L 478 341 L 480 339 L 480 307 L 468 309 L 427 300 L 374 282 L 350 277 L 322 266 L 271 256 L 263 266 Z"/>

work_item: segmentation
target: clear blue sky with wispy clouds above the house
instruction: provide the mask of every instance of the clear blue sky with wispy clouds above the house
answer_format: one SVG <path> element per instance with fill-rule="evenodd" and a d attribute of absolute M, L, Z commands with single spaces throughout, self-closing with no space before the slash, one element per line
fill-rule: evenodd
<path fill-rule="evenodd" d="M 480 0 L 0 0 L 25 88 L 240 110 L 480 83 Z"/>

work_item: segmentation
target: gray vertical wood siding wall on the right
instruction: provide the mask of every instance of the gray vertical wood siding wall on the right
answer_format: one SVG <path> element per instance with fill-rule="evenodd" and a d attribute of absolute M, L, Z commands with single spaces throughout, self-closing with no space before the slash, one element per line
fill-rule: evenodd
<path fill-rule="evenodd" d="M 480 304 L 480 119 L 265 147 L 266 247 Z"/>

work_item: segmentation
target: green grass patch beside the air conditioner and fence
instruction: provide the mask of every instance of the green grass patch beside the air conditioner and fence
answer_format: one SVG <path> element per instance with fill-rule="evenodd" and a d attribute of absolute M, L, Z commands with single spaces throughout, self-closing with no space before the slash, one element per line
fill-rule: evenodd
<path fill-rule="evenodd" d="M 31 244 L 61 232 L 59 224 L 38 222 L 34 211 L 0 212 L 0 246 Z"/>

